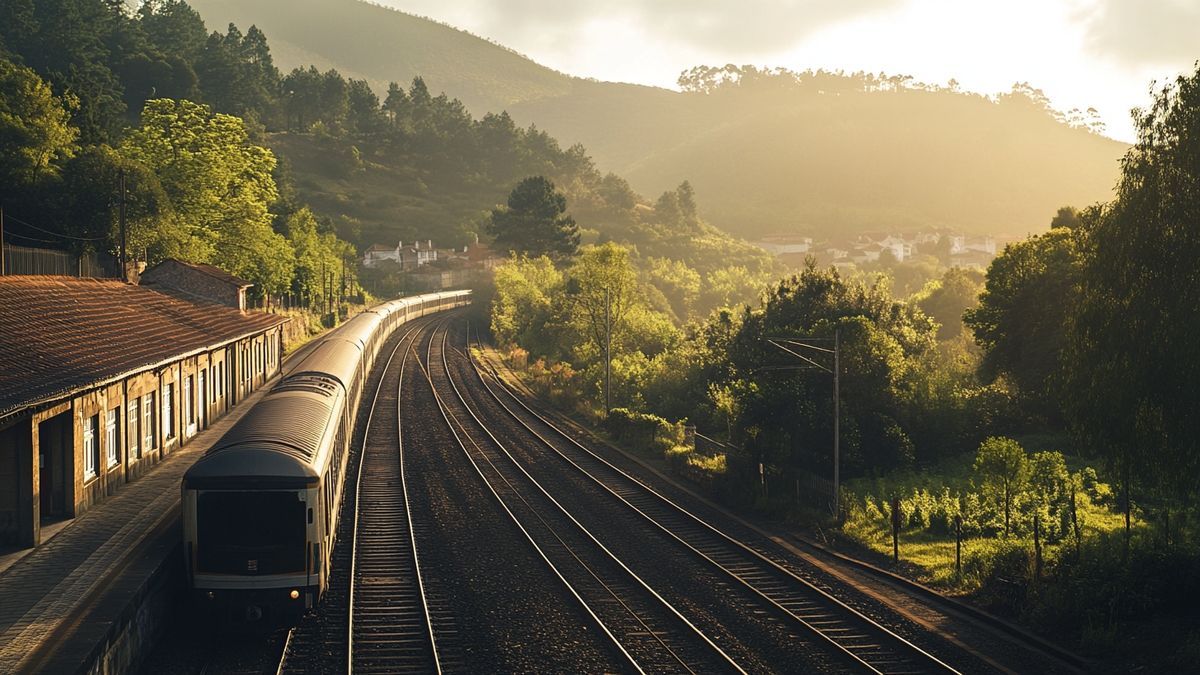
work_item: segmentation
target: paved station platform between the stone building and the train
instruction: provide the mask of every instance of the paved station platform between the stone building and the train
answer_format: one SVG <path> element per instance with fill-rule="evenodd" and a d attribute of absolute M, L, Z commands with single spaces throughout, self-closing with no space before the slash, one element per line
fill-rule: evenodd
<path fill-rule="evenodd" d="M 306 351 L 286 358 L 281 372 Z M 58 524 L 42 545 L 0 558 L 0 673 L 74 673 L 95 658 L 114 623 L 128 620 L 131 605 L 178 555 L 184 472 L 280 377 L 138 480 Z"/>

